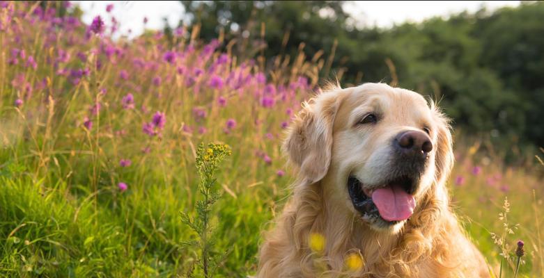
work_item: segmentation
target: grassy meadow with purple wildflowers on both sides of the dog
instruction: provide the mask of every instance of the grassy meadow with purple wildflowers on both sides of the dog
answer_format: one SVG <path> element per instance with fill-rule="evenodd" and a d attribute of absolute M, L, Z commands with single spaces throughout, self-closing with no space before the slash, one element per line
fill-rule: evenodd
<path fill-rule="evenodd" d="M 201 251 L 180 212 L 197 214 L 201 142 L 232 153 L 210 220 L 217 276 L 254 273 L 293 181 L 283 129 L 324 58 L 265 66 L 184 28 L 114 41 L 114 20 L 86 26 L 67 5 L 0 1 L 0 276 L 187 274 Z M 544 185 L 531 174 L 542 166 L 457 149 L 451 193 L 469 235 L 493 268 L 508 258 L 506 275 L 524 240 L 518 277 L 544 277 Z"/>

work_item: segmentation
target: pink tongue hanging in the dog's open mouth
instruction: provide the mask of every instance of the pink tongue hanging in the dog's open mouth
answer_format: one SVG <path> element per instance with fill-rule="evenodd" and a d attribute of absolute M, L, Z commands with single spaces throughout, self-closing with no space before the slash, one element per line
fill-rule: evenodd
<path fill-rule="evenodd" d="M 387 221 L 406 220 L 414 213 L 416 207 L 414 196 L 397 185 L 374 190 L 372 202 L 378 206 L 380 215 Z"/>

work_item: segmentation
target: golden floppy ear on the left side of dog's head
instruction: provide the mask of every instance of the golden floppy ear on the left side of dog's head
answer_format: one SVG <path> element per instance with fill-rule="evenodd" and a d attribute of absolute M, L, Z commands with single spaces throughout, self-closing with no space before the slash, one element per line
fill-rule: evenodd
<path fill-rule="evenodd" d="M 331 161 L 332 129 L 340 103 L 340 88 L 324 92 L 302 104 L 288 129 L 283 151 L 306 183 L 320 181 Z"/>

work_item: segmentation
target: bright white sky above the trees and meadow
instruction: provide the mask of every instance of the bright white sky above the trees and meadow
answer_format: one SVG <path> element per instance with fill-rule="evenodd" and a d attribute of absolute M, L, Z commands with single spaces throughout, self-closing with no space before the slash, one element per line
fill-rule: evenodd
<path fill-rule="evenodd" d="M 91 24 L 93 17 L 102 16 L 108 24 L 111 16 L 121 22 L 121 33 L 129 38 L 143 33 L 145 28 L 162 29 L 164 17 L 170 26 L 177 26 L 183 16 L 179 1 L 72 1 L 84 10 L 83 22 Z M 111 13 L 106 12 L 107 4 L 114 4 Z M 504 6 L 518 6 L 520 1 L 348 1 L 345 11 L 364 26 L 383 28 L 403 22 L 422 22 L 435 16 L 447 17 L 463 10 L 476 12 L 481 7 L 495 10 Z M 147 17 L 147 24 L 143 18 Z M 128 30 L 132 33 L 128 34 Z"/>

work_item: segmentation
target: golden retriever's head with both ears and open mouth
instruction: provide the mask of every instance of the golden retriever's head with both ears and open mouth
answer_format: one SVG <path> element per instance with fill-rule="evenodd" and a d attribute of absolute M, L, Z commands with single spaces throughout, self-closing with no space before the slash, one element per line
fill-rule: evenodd
<path fill-rule="evenodd" d="M 302 186 L 325 204 L 395 233 L 453 165 L 451 133 L 434 104 L 382 83 L 333 89 L 305 103 L 283 145 Z"/>

